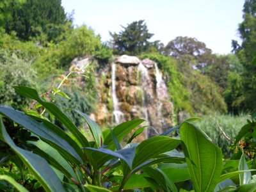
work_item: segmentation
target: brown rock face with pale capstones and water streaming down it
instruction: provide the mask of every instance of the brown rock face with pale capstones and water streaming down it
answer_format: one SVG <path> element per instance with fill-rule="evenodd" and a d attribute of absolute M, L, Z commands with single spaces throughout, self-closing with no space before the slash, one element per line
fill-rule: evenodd
<path fill-rule="evenodd" d="M 143 118 L 147 121 L 144 125 L 150 126 L 143 138 L 157 135 L 156 132 L 161 134 L 172 127 L 173 104 L 159 76 L 161 72 L 152 60 L 140 61 L 126 55 L 116 58 L 115 63 L 106 65 L 97 74 L 99 104 L 92 118 L 109 126 L 117 124 L 116 115 L 118 123 Z"/>

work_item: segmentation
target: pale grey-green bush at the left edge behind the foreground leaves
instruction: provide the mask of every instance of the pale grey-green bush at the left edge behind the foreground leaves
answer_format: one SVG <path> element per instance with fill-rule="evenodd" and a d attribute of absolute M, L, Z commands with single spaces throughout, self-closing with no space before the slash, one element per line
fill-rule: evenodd
<path fill-rule="evenodd" d="M 15 93 L 13 86 L 26 85 L 36 87 L 36 72 L 31 68 L 31 61 L 22 60 L 16 54 L 0 49 L 0 102 L 21 107 L 28 104 Z"/>

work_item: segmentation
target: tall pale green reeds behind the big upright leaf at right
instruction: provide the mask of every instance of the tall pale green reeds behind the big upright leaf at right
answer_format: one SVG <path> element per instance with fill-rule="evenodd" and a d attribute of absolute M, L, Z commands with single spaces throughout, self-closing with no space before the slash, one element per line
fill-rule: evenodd
<path fill-rule="evenodd" d="M 224 157 L 230 157 L 232 154 L 232 149 L 229 148 L 231 143 L 223 136 L 216 122 L 218 122 L 227 136 L 234 140 L 241 127 L 243 127 L 243 125 L 246 124 L 246 120 L 249 119 L 248 115 L 242 114 L 234 116 L 214 114 L 205 115 L 202 118 L 203 120 L 197 122 L 196 125 L 211 138 L 213 143 L 221 148 Z"/>

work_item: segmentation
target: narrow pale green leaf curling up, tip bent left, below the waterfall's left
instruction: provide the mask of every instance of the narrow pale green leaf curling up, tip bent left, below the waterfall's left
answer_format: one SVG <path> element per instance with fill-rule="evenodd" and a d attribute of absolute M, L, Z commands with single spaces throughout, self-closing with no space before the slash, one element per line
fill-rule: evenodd
<path fill-rule="evenodd" d="M 91 120 L 88 115 L 82 113 L 81 111 L 78 111 L 75 109 L 74 109 L 74 111 L 76 111 L 76 113 L 78 113 L 79 115 L 83 116 L 83 118 L 86 120 L 88 127 L 89 127 L 90 131 L 92 132 L 92 136 L 96 142 L 97 148 L 99 148 L 101 139 L 102 139 L 102 137 L 101 137 L 102 133 L 101 133 L 101 129 L 100 129 L 99 125 L 96 124 L 95 122 L 93 122 L 93 120 Z"/>

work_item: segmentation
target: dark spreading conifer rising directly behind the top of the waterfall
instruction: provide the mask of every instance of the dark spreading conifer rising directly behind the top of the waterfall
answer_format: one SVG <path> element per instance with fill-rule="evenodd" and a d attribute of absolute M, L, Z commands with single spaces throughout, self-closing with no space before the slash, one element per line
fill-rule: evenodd
<path fill-rule="evenodd" d="M 141 52 L 147 52 L 150 47 L 148 40 L 154 35 L 148 33 L 147 25 L 144 20 L 134 21 L 120 31 L 119 34 L 111 33 L 113 38 L 113 53 L 114 54 L 132 54 L 138 55 Z"/>

